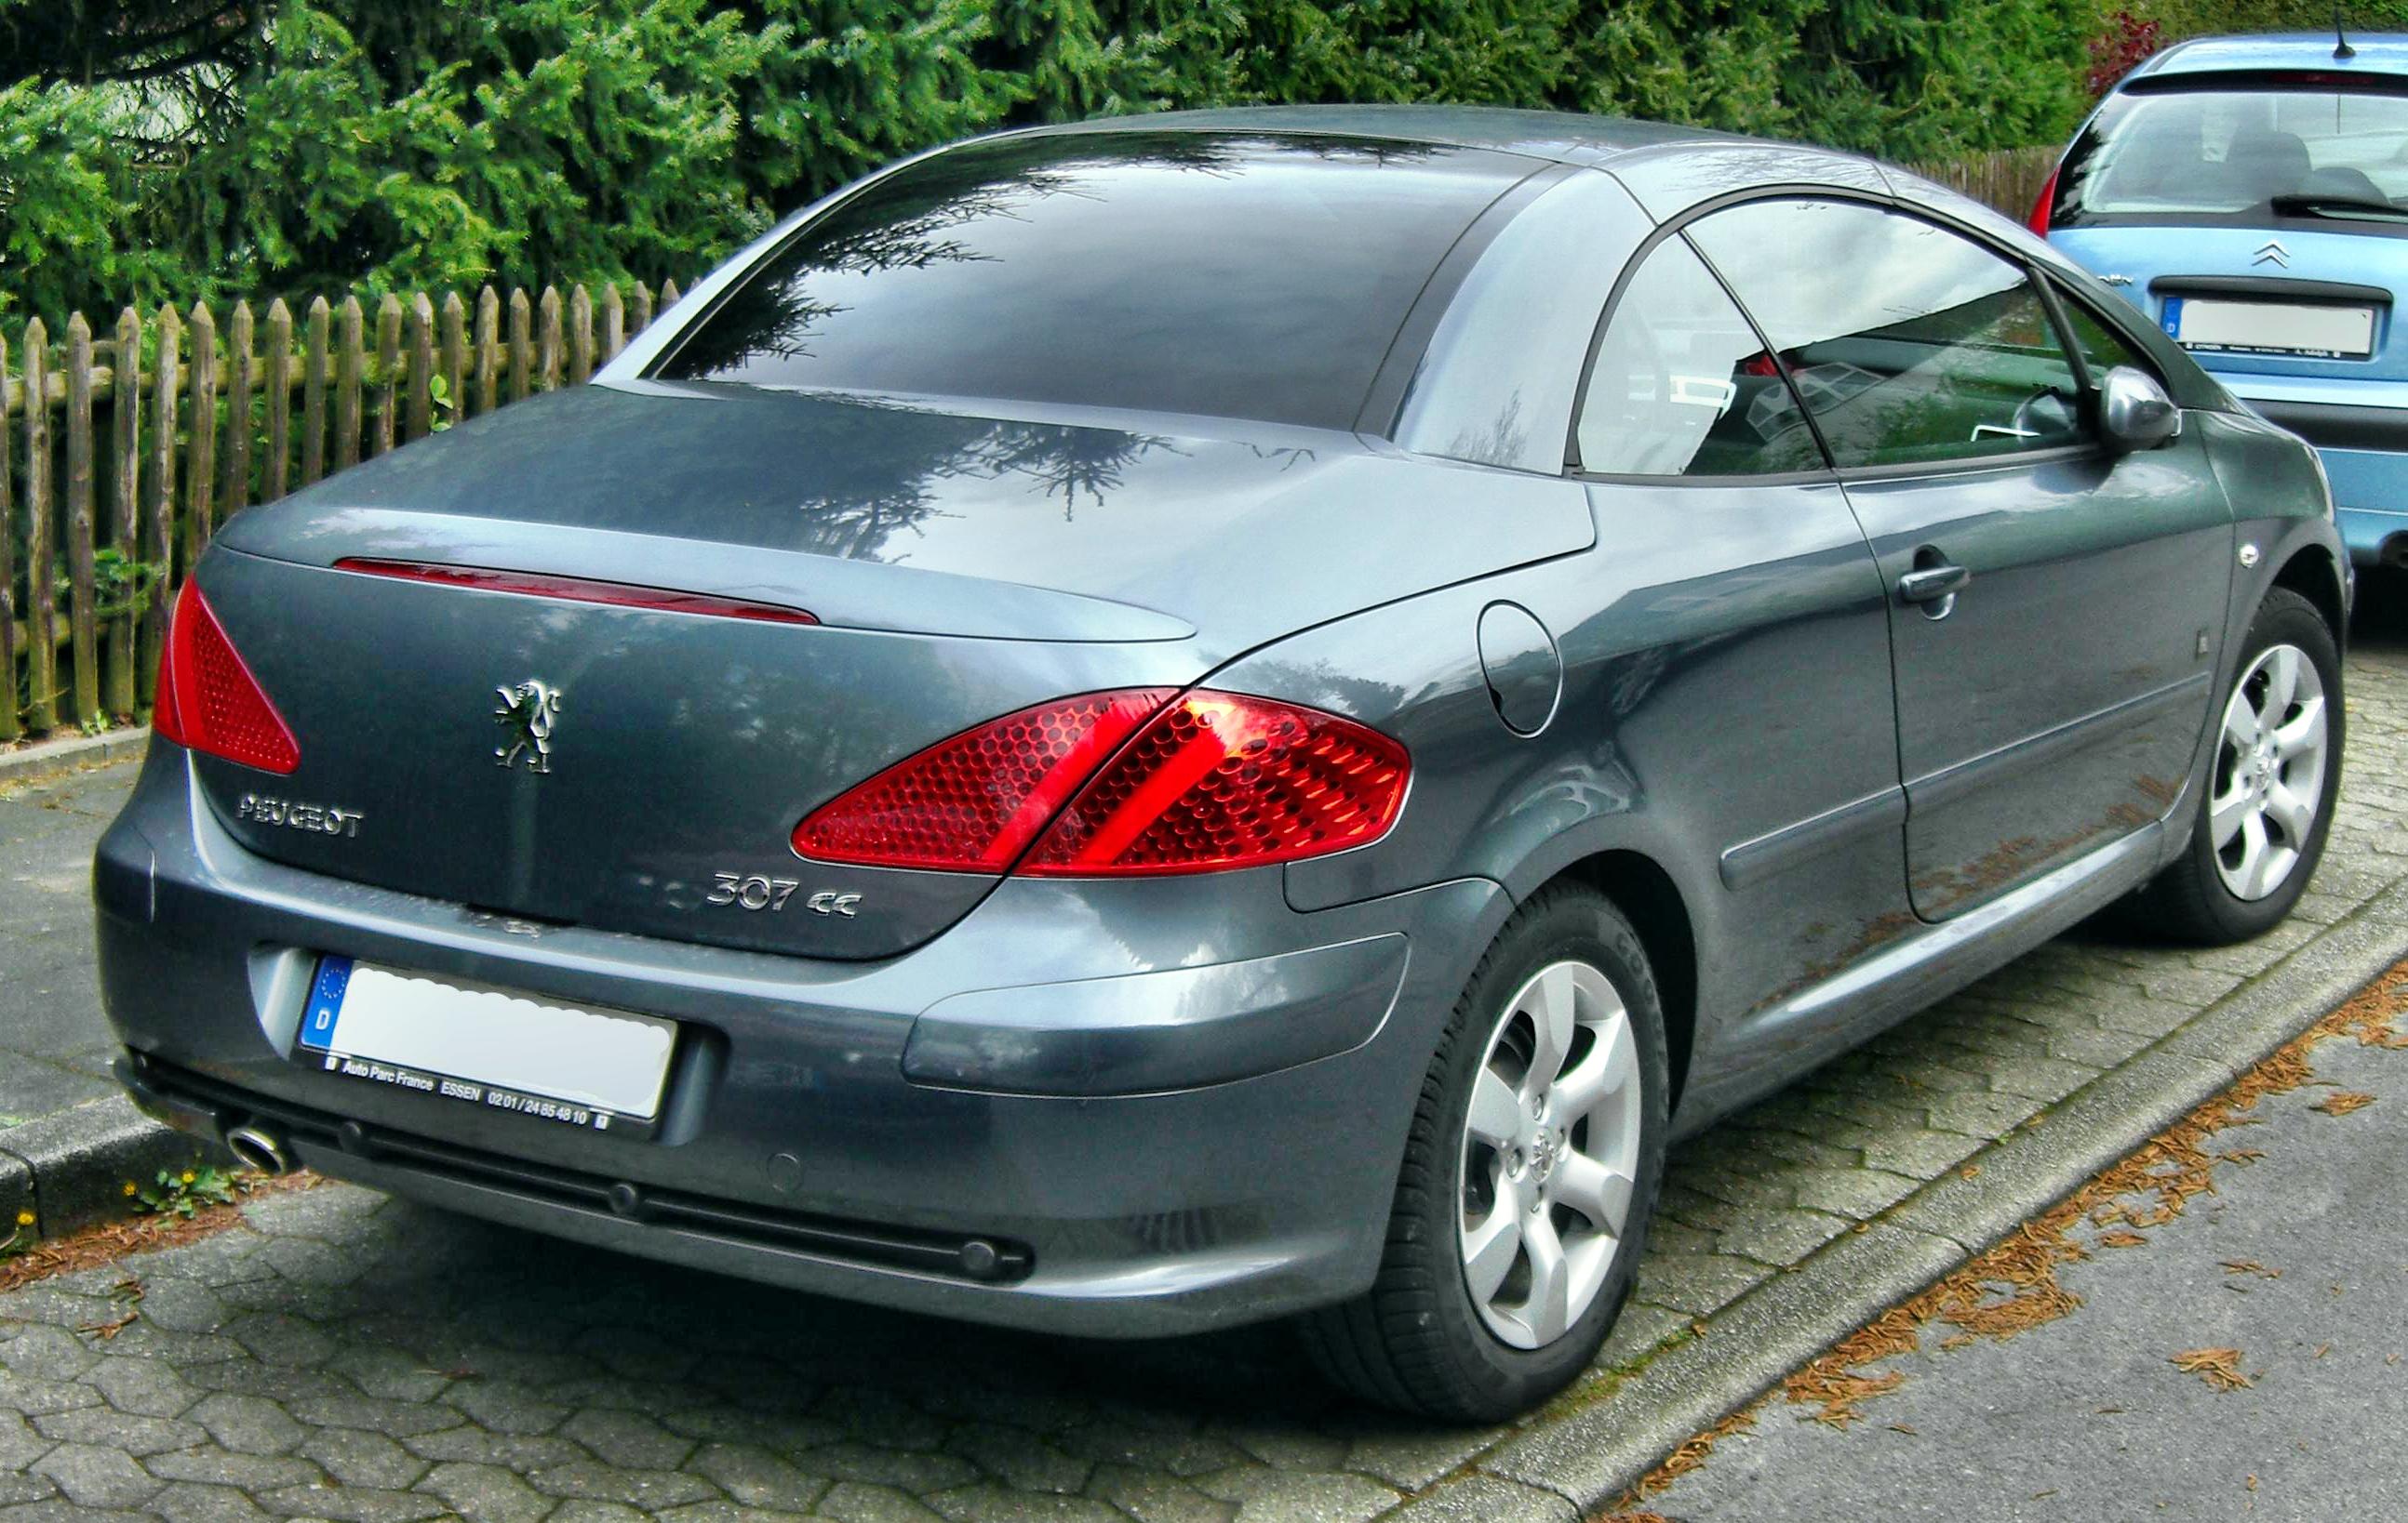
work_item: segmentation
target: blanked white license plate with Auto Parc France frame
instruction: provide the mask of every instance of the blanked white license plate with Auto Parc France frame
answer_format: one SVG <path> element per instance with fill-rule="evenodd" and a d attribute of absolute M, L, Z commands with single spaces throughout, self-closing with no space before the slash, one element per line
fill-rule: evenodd
<path fill-rule="evenodd" d="M 301 1047 L 327 1073 L 648 1136 L 677 1023 L 318 958 Z"/>

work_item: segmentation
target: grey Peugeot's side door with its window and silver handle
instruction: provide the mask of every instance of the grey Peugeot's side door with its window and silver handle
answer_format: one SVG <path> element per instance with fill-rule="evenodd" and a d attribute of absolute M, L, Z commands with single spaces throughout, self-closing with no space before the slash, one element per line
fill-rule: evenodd
<path fill-rule="evenodd" d="M 2235 529 L 2196 438 L 2100 440 L 2088 378 L 2138 356 L 2088 313 L 2068 344 L 2020 260 L 1866 200 L 1746 202 L 1690 238 L 1782 356 L 1890 587 L 1917 914 L 2167 816 Z"/>

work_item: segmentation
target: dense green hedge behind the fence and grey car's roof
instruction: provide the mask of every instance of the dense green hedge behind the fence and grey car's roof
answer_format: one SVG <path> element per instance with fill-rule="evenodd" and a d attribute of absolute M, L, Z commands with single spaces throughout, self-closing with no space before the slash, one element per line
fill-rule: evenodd
<path fill-rule="evenodd" d="M 896 154 L 1168 106 L 1560 106 L 1946 159 L 2059 137 L 2097 26 L 2093 0 L 0 0 L 0 313 L 689 277 Z"/>

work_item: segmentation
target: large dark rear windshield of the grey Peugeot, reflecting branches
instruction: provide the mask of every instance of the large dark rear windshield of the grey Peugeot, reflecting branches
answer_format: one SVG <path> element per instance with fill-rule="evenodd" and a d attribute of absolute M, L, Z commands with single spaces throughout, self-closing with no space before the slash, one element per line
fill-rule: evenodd
<path fill-rule="evenodd" d="M 1430 272 L 1529 168 L 1339 137 L 970 144 L 809 224 L 655 375 L 1353 428 Z"/>

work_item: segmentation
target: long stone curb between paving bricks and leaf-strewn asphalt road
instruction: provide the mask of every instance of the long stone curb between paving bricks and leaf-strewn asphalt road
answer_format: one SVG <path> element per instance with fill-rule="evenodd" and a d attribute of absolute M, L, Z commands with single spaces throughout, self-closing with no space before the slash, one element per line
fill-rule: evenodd
<path fill-rule="evenodd" d="M 2408 955 L 2408 878 L 2160 1042 L 1702 1321 L 1611 1398 L 1541 1417 L 1389 1518 L 1572 1523 L 1881 1311 L 2223 1092 Z M 1972 1167 L 1972 1174 L 1965 1169 Z M 1577 1398 L 1572 1398 L 1577 1403 Z"/>

